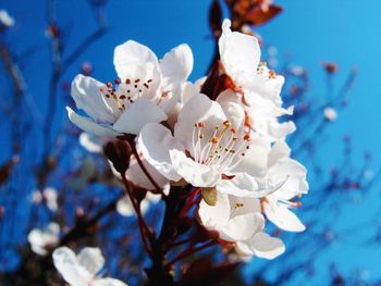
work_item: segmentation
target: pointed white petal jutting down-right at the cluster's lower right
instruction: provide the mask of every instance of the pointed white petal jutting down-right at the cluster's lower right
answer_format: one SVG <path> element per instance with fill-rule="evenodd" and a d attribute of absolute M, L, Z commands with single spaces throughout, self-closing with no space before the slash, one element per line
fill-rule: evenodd
<path fill-rule="evenodd" d="M 266 216 L 283 231 L 304 232 L 306 229 L 295 213 L 273 198 L 268 197 L 262 206 Z"/>

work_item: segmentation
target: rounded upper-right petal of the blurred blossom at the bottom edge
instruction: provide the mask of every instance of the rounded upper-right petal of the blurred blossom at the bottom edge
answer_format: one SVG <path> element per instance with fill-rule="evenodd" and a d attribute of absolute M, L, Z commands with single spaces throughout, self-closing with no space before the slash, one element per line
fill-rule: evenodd
<path fill-rule="evenodd" d="M 103 266 L 105 258 L 97 247 L 85 247 L 77 256 L 78 263 L 95 276 Z"/>

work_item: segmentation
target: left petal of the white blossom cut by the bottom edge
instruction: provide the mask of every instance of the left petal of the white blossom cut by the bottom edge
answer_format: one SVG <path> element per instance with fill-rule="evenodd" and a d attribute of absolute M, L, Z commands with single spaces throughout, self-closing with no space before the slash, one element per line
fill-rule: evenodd
<path fill-rule="evenodd" d="M 87 285 L 94 277 L 78 263 L 75 253 L 67 247 L 57 248 L 52 258 L 56 269 L 71 286 Z"/>

